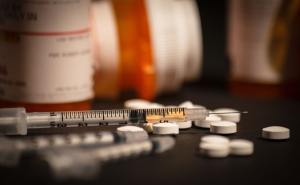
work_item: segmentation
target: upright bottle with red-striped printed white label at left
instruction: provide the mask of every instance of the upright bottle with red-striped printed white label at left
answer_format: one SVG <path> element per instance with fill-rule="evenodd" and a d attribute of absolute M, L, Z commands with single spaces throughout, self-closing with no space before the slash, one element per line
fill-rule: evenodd
<path fill-rule="evenodd" d="M 0 107 L 90 109 L 90 1 L 3 0 L 0 8 Z"/>

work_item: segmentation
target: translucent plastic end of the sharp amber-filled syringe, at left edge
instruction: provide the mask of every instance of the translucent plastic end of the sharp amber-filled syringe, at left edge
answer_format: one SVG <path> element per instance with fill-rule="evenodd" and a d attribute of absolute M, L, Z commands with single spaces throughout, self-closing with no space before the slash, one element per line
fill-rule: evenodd
<path fill-rule="evenodd" d="M 0 135 L 26 135 L 26 119 L 25 108 L 0 109 Z"/>

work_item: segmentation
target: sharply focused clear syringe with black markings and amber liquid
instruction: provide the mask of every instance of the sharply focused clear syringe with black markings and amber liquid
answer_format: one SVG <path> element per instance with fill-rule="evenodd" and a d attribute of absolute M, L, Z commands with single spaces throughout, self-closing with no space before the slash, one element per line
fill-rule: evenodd
<path fill-rule="evenodd" d="M 159 122 L 204 120 L 204 107 L 113 109 L 66 112 L 30 112 L 25 108 L 0 109 L 0 135 L 26 135 L 27 129 L 103 125 L 140 125 Z"/>

